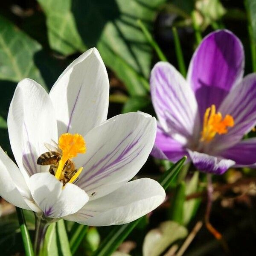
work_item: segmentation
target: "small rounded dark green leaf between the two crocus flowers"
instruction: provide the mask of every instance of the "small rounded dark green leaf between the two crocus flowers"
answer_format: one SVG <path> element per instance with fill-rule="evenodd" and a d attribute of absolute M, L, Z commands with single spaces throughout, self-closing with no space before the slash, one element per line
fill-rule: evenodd
<path fill-rule="evenodd" d="M 122 113 L 143 111 L 151 103 L 149 97 L 146 96 L 134 96 L 128 99 L 123 106 Z"/>

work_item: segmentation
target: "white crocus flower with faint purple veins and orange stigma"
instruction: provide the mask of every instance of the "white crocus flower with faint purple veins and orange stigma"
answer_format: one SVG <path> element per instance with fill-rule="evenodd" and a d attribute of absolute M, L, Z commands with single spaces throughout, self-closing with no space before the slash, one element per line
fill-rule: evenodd
<path fill-rule="evenodd" d="M 159 183 L 129 181 L 151 152 L 156 120 L 127 113 L 106 121 L 108 96 L 107 71 L 95 48 L 73 61 L 49 94 L 33 80 L 20 81 L 8 114 L 18 167 L 0 148 L 0 196 L 45 218 L 93 226 L 128 223 L 159 206 L 165 198 Z M 52 175 L 37 161 L 53 141 L 61 159 Z M 71 159 L 77 172 L 64 182 Z"/>

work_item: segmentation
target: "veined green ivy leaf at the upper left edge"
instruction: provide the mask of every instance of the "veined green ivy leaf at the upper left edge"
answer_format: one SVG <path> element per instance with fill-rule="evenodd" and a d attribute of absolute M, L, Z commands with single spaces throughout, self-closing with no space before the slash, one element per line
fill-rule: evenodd
<path fill-rule="evenodd" d="M 34 55 L 41 45 L 0 16 L 0 79 L 20 81 L 26 77 L 44 85 Z"/>

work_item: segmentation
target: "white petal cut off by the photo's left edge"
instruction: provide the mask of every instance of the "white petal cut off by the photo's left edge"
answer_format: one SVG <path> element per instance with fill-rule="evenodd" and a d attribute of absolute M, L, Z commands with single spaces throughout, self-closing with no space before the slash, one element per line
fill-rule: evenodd
<path fill-rule="evenodd" d="M 23 198 L 29 195 L 20 170 L 0 147 L 0 196 L 17 207 L 30 210 Z"/>

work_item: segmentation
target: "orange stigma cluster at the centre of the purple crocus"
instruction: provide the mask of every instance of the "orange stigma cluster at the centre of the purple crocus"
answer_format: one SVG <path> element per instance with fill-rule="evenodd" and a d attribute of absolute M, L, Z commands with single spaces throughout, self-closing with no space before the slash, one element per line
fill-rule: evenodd
<path fill-rule="evenodd" d="M 223 119 L 221 113 L 216 113 L 215 105 L 212 105 L 204 113 L 204 125 L 201 132 L 201 141 L 209 142 L 215 135 L 226 134 L 228 132 L 227 127 L 233 127 L 235 125 L 233 116 L 226 115 Z"/>

